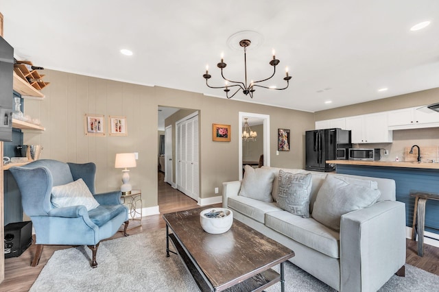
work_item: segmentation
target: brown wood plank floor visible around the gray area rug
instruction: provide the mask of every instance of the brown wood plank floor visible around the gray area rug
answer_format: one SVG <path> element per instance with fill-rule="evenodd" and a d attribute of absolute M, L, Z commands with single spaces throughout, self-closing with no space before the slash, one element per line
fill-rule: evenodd
<path fill-rule="evenodd" d="M 158 173 L 158 206 L 161 212 L 160 215 L 143 217 L 141 226 L 139 221 L 130 222 L 130 227 L 138 227 L 130 229 L 128 233 L 137 234 L 165 228 L 165 221 L 162 219 L 163 214 L 199 207 L 195 200 L 163 182 L 163 173 Z M 215 206 L 220 206 L 220 204 Z M 123 236 L 122 232 L 117 232 L 111 239 L 121 236 Z M 6 258 L 5 280 L 0 284 L 0 291 L 28 291 L 51 255 L 56 250 L 62 250 L 63 248 L 68 247 L 59 245 L 45 246 L 37 267 L 30 267 L 32 256 L 34 256 L 35 252 L 34 244 L 19 257 Z M 99 250 L 97 252 L 99 252 Z M 417 243 L 407 239 L 406 263 L 439 276 L 439 247 L 424 245 L 424 256 L 421 258 L 417 255 Z M 66 263 L 66 265 L 68 265 L 68 263 Z M 97 269 L 99 269 L 99 265 Z"/>

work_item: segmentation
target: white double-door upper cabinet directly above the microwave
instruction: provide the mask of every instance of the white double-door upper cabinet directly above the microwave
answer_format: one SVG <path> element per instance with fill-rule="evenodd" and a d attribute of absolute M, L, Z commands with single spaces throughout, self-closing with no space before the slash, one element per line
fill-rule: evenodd
<path fill-rule="evenodd" d="M 391 143 L 393 135 L 387 125 L 387 112 L 346 118 L 346 130 L 351 130 L 351 141 L 355 144 Z"/>

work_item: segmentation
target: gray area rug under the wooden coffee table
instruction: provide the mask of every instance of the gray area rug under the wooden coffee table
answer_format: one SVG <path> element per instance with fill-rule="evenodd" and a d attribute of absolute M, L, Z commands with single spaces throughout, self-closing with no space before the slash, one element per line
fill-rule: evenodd
<path fill-rule="evenodd" d="M 165 229 L 104 241 L 98 266 L 88 247 L 58 250 L 29 291 L 199 291 L 176 255 L 166 257 Z M 171 244 L 170 244 L 171 245 Z M 405 278 L 392 276 L 380 291 L 438 291 L 439 276 L 405 265 Z M 280 291 L 274 284 L 265 291 Z M 285 264 L 285 291 L 334 291 L 292 263 Z"/>

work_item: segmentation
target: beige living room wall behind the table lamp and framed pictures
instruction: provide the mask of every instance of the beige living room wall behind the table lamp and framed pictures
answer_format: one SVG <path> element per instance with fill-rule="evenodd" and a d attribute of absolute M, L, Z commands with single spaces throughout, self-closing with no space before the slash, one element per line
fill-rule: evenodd
<path fill-rule="evenodd" d="M 214 188 L 222 192 L 222 182 L 238 178 L 237 129 L 239 111 L 270 115 L 270 157 L 275 167 L 304 167 L 304 132 L 313 129 L 314 115 L 309 112 L 205 97 L 199 93 L 162 87 L 147 87 L 95 77 L 46 70 L 43 101 L 27 99 L 25 113 L 39 118 L 46 131 L 25 133 L 25 144 L 43 145 L 40 158 L 69 162 L 95 162 L 98 192 L 119 188 L 120 169 L 114 168 L 119 152 L 139 152 L 130 178 L 141 188 L 143 206 L 157 206 L 157 109 L 158 106 L 200 110 L 200 197 L 214 197 Z M 261 92 L 262 93 L 262 92 Z M 85 136 L 84 114 L 127 117 L 128 136 Z M 108 121 L 106 127 L 108 127 Z M 212 141 L 212 123 L 230 124 L 230 143 Z M 291 129 L 292 151 L 276 156 L 277 129 Z M 106 131 L 108 132 L 108 130 Z"/>

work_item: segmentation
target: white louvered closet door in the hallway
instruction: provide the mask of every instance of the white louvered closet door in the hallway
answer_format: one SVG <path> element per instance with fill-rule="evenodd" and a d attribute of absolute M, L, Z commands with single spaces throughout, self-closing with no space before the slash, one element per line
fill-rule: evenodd
<path fill-rule="evenodd" d="M 189 197 L 199 196 L 198 116 L 177 124 L 177 187 Z"/>

